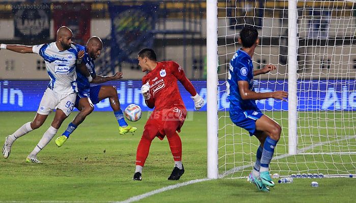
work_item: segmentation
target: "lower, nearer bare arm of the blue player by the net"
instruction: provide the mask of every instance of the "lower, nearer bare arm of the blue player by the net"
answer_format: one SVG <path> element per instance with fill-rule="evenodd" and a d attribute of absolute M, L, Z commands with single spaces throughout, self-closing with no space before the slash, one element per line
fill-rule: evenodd
<path fill-rule="evenodd" d="M 244 100 L 248 99 L 265 99 L 265 98 L 275 98 L 286 101 L 288 98 L 288 92 L 285 91 L 275 91 L 275 92 L 255 92 L 249 89 L 249 83 L 247 81 L 238 81 L 239 91 L 241 98 Z"/>

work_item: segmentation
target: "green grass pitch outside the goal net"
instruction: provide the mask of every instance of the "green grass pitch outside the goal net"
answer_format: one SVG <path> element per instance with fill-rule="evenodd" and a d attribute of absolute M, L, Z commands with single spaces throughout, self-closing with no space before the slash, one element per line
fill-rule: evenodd
<path fill-rule="evenodd" d="M 75 115 L 76 112 L 67 118 L 54 138 L 60 136 Z M 34 116 L 35 112 L 0 112 L 1 145 L 8 134 Z M 138 127 L 134 135 L 120 136 L 112 112 L 94 112 L 63 147 L 56 147 L 53 139 L 38 154 L 43 164 L 25 163 L 26 156 L 49 127 L 51 114 L 41 128 L 14 143 L 8 159 L 0 158 L 0 202 L 123 201 L 165 186 L 206 178 L 206 113 L 190 112 L 188 116 L 180 133 L 186 170 L 181 180 L 167 181 L 173 159 L 167 140 L 155 139 L 143 168 L 143 180 L 139 182 L 132 181 L 132 176 L 147 113 L 138 122 L 130 123 Z M 279 148 L 282 153 L 283 147 Z M 243 157 L 235 155 L 234 159 Z M 277 184 L 270 193 L 261 193 L 246 179 L 219 179 L 165 191 L 140 202 L 354 202 L 354 180 L 317 179 L 319 187 L 312 188 L 313 180 L 294 179 L 292 184 Z"/>

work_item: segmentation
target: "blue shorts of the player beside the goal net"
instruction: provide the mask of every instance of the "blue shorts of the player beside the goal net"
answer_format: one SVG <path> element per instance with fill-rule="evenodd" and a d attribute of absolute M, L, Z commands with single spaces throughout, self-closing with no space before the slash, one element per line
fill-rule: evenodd
<path fill-rule="evenodd" d="M 235 125 L 249 131 L 250 136 L 253 136 L 256 131 L 256 120 L 263 116 L 262 112 L 259 109 L 239 112 L 230 111 L 229 113 L 231 121 Z"/>

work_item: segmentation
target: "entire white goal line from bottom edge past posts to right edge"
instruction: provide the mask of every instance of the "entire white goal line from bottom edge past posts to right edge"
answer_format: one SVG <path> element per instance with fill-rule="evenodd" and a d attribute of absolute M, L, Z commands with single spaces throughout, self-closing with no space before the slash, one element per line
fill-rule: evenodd
<path fill-rule="evenodd" d="M 314 147 L 321 146 L 323 144 L 339 142 L 339 141 L 343 141 L 343 140 L 350 140 L 352 138 L 356 138 L 356 136 L 349 136 L 349 137 L 346 137 L 346 138 L 343 138 L 343 139 L 337 139 L 337 140 L 333 140 L 333 141 L 325 141 L 325 142 L 321 142 L 321 143 L 318 143 L 318 144 L 310 145 L 308 147 L 299 149 L 297 151 L 297 154 L 283 154 L 283 155 L 275 156 L 272 159 L 276 160 L 276 159 L 281 159 L 281 158 L 285 158 L 285 157 L 288 157 L 288 156 L 294 156 L 294 155 L 298 155 L 298 154 L 303 154 L 303 152 L 305 152 L 307 150 L 310 150 L 310 149 L 313 149 Z M 251 166 L 252 166 L 252 164 L 242 165 L 242 166 L 239 166 L 239 167 L 232 168 L 231 170 L 225 172 L 224 174 L 220 174 L 219 178 L 223 178 L 228 174 L 232 174 L 232 173 L 234 173 L 236 171 L 241 171 L 244 168 L 251 167 Z M 153 190 L 151 192 L 146 192 L 144 194 L 140 194 L 140 195 L 137 195 L 137 196 L 130 197 L 130 198 L 124 200 L 124 201 L 114 201 L 113 203 L 130 203 L 130 202 L 138 201 L 138 200 L 141 200 L 143 198 L 146 198 L 146 197 L 149 197 L 149 196 L 152 196 L 152 195 L 155 195 L 155 194 L 167 191 L 167 190 L 172 190 L 172 189 L 179 188 L 179 187 L 182 187 L 182 186 L 186 186 L 186 185 L 190 185 L 190 184 L 194 184 L 194 183 L 199 183 L 199 182 L 203 182 L 203 181 L 209 181 L 209 180 L 213 180 L 213 179 L 209 179 L 209 178 L 196 179 L 196 180 L 191 180 L 191 181 L 184 182 L 184 183 L 170 185 L 170 186 L 163 187 L 163 188 L 160 188 L 160 189 L 157 189 L 157 190 Z"/>

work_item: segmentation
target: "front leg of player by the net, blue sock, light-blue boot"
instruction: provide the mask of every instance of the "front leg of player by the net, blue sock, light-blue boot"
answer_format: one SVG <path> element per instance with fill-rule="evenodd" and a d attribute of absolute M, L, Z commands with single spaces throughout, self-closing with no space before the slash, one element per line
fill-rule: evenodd
<path fill-rule="evenodd" d="M 262 131 L 267 136 L 257 137 L 258 140 L 263 144 L 262 156 L 261 156 L 261 167 L 260 167 L 260 178 L 263 184 L 268 186 L 275 186 L 269 173 L 269 164 L 273 157 L 275 147 L 281 135 L 281 126 L 268 116 L 263 115 L 256 121 L 256 130 Z M 264 140 L 264 142 L 263 142 Z"/>

